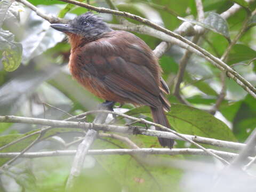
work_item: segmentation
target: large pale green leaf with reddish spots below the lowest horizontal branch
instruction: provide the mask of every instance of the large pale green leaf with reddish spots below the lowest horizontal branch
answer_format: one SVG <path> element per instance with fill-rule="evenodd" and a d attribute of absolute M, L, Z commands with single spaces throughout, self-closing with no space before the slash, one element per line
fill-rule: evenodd
<path fill-rule="evenodd" d="M 120 147 L 125 148 L 123 142 L 111 138 L 106 138 L 105 141 L 96 140 L 93 144 L 95 149 Z M 161 156 L 161 160 L 157 158 L 159 156 Z M 157 159 L 167 161 L 167 159 L 174 158 L 168 155 L 150 155 L 147 157 L 151 161 Z M 128 191 L 170 191 L 170 188 L 174 191 L 180 191 L 179 179 L 182 172 L 178 169 L 147 165 L 147 163 L 137 160 L 141 159 L 140 156 L 133 155 L 99 155 L 95 158 L 111 177 L 118 181 L 121 186 L 125 186 Z"/>

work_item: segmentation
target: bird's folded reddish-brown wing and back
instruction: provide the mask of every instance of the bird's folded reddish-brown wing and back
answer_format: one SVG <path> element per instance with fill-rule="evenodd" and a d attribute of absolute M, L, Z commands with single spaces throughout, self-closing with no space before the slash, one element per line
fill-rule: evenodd
<path fill-rule="evenodd" d="M 115 98 L 122 98 L 126 102 L 151 107 L 162 106 L 159 88 L 163 87 L 161 68 L 153 52 L 141 39 L 119 31 L 119 34 L 110 33 L 85 44 L 81 50 L 77 62 L 80 66 L 78 71 L 86 71 L 82 73 L 86 74 L 83 78 L 91 81 L 95 89 L 99 89 L 100 84 L 111 92 L 109 97 L 116 94 Z M 164 91 L 167 92 L 165 87 Z M 103 96 L 102 98 L 108 99 L 107 95 Z M 117 99 L 115 101 L 120 102 Z"/>

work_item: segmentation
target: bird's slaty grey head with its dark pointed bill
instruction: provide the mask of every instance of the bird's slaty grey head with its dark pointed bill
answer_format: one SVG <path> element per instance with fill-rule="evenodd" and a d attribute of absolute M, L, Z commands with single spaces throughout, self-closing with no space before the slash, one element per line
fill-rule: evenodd
<path fill-rule="evenodd" d="M 79 15 L 68 24 L 52 24 L 51 27 L 67 35 L 76 34 L 87 39 L 97 38 L 97 36 L 112 30 L 102 21 L 101 17 L 92 12 Z"/>

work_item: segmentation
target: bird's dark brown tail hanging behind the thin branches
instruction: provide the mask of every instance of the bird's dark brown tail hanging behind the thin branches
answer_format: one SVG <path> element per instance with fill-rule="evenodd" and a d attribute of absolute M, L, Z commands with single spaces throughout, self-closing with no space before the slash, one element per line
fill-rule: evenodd
<path fill-rule="evenodd" d="M 150 109 L 151 109 L 151 114 L 153 116 L 153 119 L 154 119 L 155 123 L 161 124 L 161 125 L 166 126 L 168 128 L 171 128 L 171 126 L 170 126 L 169 122 L 167 121 L 167 118 L 164 114 L 163 107 L 158 107 L 158 108 L 150 107 Z M 159 127 L 156 127 L 156 130 L 164 131 Z M 173 143 L 174 143 L 173 139 L 158 138 L 158 141 L 159 141 L 160 145 L 163 146 L 163 147 L 167 146 L 170 149 L 173 147 Z"/>

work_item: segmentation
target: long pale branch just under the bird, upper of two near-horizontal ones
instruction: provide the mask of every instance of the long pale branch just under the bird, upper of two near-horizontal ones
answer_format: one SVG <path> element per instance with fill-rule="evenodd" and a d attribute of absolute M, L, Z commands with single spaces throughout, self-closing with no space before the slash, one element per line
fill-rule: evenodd
<path fill-rule="evenodd" d="M 87 115 L 87 114 L 92 114 L 92 113 L 110 113 L 110 114 L 123 116 L 125 118 L 130 118 L 134 121 L 136 121 L 138 119 L 138 118 L 131 117 L 131 116 L 121 114 L 121 113 L 117 113 L 114 111 L 94 110 L 94 111 L 88 111 L 84 114 Z M 80 114 L 76 117 L 82 117 L 84 114 Z M 151 137 L 163 137 L 163 138 L 169 138 L 169 139 L 184 140 L 170 132 L 145 130 L 145 129 L 141 129 L 140 127 L 135 127 L 135 126 L 129 127 L 129 126 L 92 124 L 92 123 L 81 123 L 81 122 L 54 121 L 54 120 L 48 120 L 48 119 L 26 118 L 26 117 L 18 117 L 18 116 L 0 116 L 0 122 L 43 124 L 43 125 L 49 125 L 49 126 L 55 126 L 55 127 L 70 127 L 70 128 L 79 128 L 79 129 L 85 129 L 85 130 L 94 129 L 94 130 L 121 132 L 121 133 L 129 133 L 129 134 L 132 134 L 134 129 L 138 129 L 139 134 L 148 135 Z M 60 122 L 60 124 L 58 124 L 58 122 Z M 52 128 L 52 127 L 50 127 L 50 128 Z M 44 129 L 46 131 L 47 129 L 49 129 L 49 127 L 46 127 Z M 38 134 L 38 132 L 34 132 L 33 134 Z M 223 148 L 229 148 L 229 149 L 242 149 L 245 146 L 245 144 L 238 143 L 238 142 L 223 141 L 223 140 L 198 137 L 196 135 L 188 135 L 188 134 L 181 134 L 181 135 L 183 135 L 183 137 L 187 137 L 195 142 L 204 143 L 207 145 L 213 145 L 213 146 L 217 146 L 217 147 L 223 147 Z"/>

